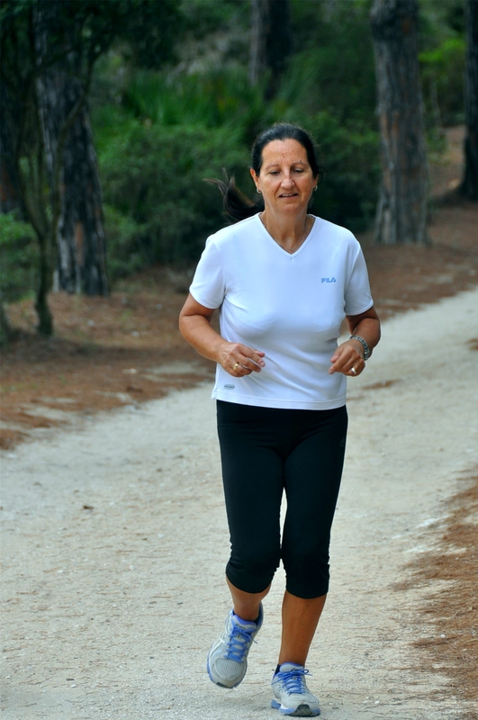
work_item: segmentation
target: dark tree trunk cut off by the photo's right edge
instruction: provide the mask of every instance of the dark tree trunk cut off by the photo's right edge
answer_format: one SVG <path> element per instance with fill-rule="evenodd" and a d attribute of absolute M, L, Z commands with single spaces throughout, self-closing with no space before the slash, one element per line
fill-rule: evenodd
<path fill-rule="evenodd" d="M 464 178 L 460 193 L 478 200 L 478 0 L 466 0 L 466 68 L 464 75 Z"/>

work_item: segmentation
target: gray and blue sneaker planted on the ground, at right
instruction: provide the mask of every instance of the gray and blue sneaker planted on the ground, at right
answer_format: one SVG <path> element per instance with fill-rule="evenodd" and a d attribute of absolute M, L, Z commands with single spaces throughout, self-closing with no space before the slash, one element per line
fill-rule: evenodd
<path fill-rule="evenodd" d="M 271 707 L 289 717 L 316 717 L 320 715 L 319 700 L 312 695 L 306 683 L 308 670 L 295 662 L 283 662 L 272 679 L 274 698 Z"/>

